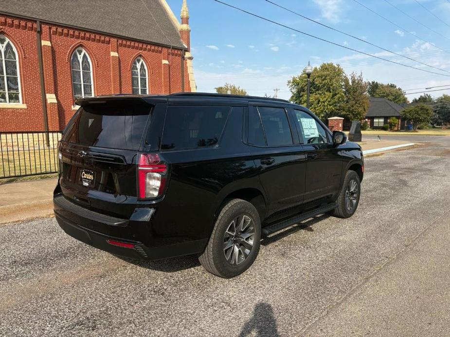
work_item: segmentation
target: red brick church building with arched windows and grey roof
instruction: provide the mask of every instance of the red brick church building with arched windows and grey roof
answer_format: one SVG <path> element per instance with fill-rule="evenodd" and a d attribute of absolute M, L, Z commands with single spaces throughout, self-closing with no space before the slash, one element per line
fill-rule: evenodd
<path fill-rule="evenodd" d="M 196 91 L 186 0 L 0 5 L 0 132 L 57 131 L 79 97 Z"/>

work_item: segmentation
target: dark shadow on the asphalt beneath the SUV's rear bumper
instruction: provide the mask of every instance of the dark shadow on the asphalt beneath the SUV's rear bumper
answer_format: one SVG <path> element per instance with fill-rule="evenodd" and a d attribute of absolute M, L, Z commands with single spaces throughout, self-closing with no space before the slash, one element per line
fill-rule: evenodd
<path fill-rule="evenodd" d="M 164 272 L 176 272 L 200 266 L 200 262 L 198 262 L 198 255 L 186 255 L 154 261 L 133 259 L 119 255 L 114 256 L 142 268 Z"/>

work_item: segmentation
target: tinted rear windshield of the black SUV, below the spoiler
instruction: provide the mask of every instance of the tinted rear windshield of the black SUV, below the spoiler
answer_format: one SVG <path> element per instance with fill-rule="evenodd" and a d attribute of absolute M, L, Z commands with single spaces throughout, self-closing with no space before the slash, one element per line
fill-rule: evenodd
<path fill-rule="evenodd" d="M 138 150 L 149 105 L 91 104 L 78 110 L 63 140 L 87 146 Z"/>

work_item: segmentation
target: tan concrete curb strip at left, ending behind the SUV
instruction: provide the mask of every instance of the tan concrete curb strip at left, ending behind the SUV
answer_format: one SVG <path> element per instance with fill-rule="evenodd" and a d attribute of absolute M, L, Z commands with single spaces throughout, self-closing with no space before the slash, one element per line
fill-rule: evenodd
<path fill-rule="evenodd" d="M 0 207 L 0 224 L 53 215 L 53 199 L 22 202 Z"/>

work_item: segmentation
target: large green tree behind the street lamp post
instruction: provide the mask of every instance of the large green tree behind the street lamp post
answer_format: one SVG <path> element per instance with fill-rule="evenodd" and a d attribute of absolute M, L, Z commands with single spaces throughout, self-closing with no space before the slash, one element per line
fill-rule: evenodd
<path fill-rule="evenodd" d="M 319 117 L 326 118 L 341 112 L 344 95 L 345 73 L 341 66 L 323 63 L 311 74 L 309 107 Z M 292 93 L 290 101 L 306 105 L 307 76 L 305 70 L 288 81 Z"/>

